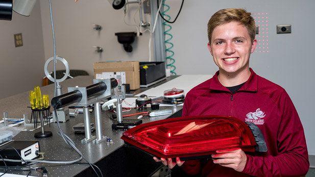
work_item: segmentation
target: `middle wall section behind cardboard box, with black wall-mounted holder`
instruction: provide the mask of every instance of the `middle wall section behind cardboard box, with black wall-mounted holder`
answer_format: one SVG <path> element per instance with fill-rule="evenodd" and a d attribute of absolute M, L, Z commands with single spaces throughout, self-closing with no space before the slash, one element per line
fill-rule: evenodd
<path fill-rule="evenodd" d="M 53 39 L 49 12 L 49 2 L 40 1 L 45 59 L 53 56 Z M 130 5 L 126 21 L 133 24 L 133 15 L 137 5 Z M 65 58 L 70 69 L 83 69 L 93 75 L 93 63 L 101 61 L 148 61 L 149 33 L 135 39 L 131 44 L 133 52 L 125 52 L 123 45 L 117 41 L 117 32 L 136 32 L 133 26 L 124 23 L 123 9 L 114 10 L 108 1 L 93 0 L 77 3 L 70 0 L 53 0 L 53 20 L 56 37 L 56 53 Z M 139 21 L 139 14 L 136 14 Z M 144 15 L 150 19 L 150 16 Z M 100 24 L 103 30 L 94 30 L 94 24 Z M 95 52 L 92 46 L 101 46 L 104 52 Z M 53 65 L 51 62 L 50 67 Z M 53 69 L 52 69 L 53 70 Z"/>

